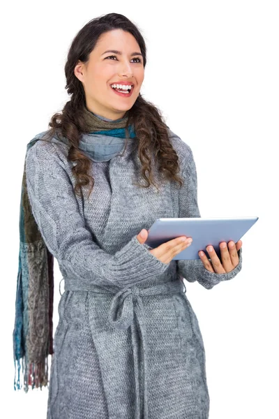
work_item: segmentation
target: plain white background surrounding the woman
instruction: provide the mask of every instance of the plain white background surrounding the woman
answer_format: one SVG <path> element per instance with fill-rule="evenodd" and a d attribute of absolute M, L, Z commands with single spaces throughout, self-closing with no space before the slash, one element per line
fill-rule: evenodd
<path fill-rule="evenodd" d="M 243 237 L 243 267 L 232 281 L 210 291 L 186 281 L 204 337 L 210 419 L 279 418 L 276 6 L 267 0 L 14 1 L 2 6 L 2 417 L 38 419 L 47 412 L 47 388 L 27 394 L 13 389 L 27 142 L 47 129 L 69 99 L 63 66 L 77 31 L 93 17 L 115 12 L 137 24 L 146 41 L 144 98 L 193 150 L 202 217 L 259 216 Z M 54 279 L 55 328 L 57 264 Z"/>

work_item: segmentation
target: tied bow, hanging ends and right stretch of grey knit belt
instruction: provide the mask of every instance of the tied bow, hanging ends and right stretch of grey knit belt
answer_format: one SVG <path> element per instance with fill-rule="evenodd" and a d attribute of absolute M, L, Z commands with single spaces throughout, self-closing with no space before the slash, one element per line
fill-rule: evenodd
<path fill-rule="evenodd" d="M 148 419 L 148 409 L 147 409 L 147 380 L 146 380 L 146 370 L 147 370 L 147 361 L 146 361 L 146 328 L 144 322 L 144 305 L 142 302 L 143 295 L 158 295 L 158 294 L 169 294 L 169 293 L 178 293 L 182 291 L 183 283 L 181 280 L 167 282 L 166 284 L 160 284 L 158 286 L 153 286 L 150 288 L 139 289 L 137 286 L 131 288 L 122 288 L 118 293 L 112 298 L 112 303 L 110 305 L 109 311 L 109 321 L 114 328 L 119 328 L 122 330 L 131 327 L 131 337 L 133 344 L 133 358 L 134 358 L 134 367 L 135 367 L 135 392 L 136 392 L 136 402 L 135 402 L 135 419 Z M 121 309 L 121 314 L 118 316 L 118 311 Z M 137 327 L 140 331 L 142 342 L 142 360 L 143 360 L 143 369 L 144 369 L 144 415 L 141 415 L 140 411 L 140 379 L 139 379 L 139 354 L 137 349 Z"/>

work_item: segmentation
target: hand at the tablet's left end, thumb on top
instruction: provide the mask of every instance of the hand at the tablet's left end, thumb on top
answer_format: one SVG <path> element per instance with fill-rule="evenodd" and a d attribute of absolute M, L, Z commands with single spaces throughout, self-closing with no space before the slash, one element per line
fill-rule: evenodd
<path fill-rule="evenodd" d="M 141 235 L 143 233 L 143 235 Z M 139 235 L 137 235 L 137 240 L 140 242 L 140 244 L 144 243 L 148 237 L 147 230 L 145 228 L 140 232 Z M 186 237 L 186 241 L 181 241 L 182 237 L 176 237 L 175 239 L 169 240 L 169 242 L 165 242 L 163 244 L 160 244 L 160 246 L 155 247 L 155 249 L 149 250 L 150 253 L 152 253 L 156 258 L 158 258 L 163 263 L 169 263 L 174 256 L 176 256 L 178 253 L 183 251 L 184 249 L 187 249 L 187 247 L 190 247 L 192 243 L 191 237 Z"/>

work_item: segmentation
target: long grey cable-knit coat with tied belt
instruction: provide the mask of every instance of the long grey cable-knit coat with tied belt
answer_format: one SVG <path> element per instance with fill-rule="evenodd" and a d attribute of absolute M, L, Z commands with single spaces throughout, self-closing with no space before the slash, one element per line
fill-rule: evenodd
<path fill-rule="evenodd" d="M 88 155 L 95 135 L 84 134 Z M 66 143 L 37 141 L 27 153 L 33 216 L 65 281 L 47 419 L 209 417 L 202 334 L 181 279 L 212 288 L 232 279 L 241 259 L 232 272 L 213 274 L 199 260 L 163 263 L 137 241 L 158 218 L 199 216 L 193 154 L 170 130 L 169 140 L 181 189 L 154 166 L 160 190 L 135 186 L 140 159 L 131 138 L 123 154 L 94 161 L 89 200 L 87 191 L 74 194 Z"/>

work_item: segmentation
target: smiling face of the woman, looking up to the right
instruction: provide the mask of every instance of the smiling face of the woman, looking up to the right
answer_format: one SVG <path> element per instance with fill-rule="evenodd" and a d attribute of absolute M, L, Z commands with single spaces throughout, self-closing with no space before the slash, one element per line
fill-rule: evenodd
<path fill-rule="evenodd" d="M 108 119 L 122 118 L 137 100 L 144 80 L 140 47 L 133 35 L 122 29 L 102 34 L 89 62 L 79 61 L 75 66 L 75 75 L 83 84 L 88 110 Z M 117 82 L 133 84 L 131 95 L 116 94 L 111 84 Z"/>

